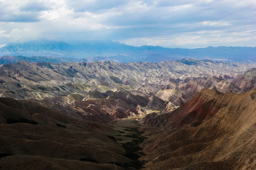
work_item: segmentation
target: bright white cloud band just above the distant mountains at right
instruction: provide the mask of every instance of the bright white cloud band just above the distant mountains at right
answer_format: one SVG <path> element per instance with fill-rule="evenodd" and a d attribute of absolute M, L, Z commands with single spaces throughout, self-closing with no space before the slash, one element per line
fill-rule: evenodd
<path fill-rule="evenodd" d="M 227 33 L 225 31 L 200 31 L 192 33 L 182 33 L 170 36 L 128 38 L 116 40 L 121 43 L 135 46 L 159 45 L 169 48 L 200 48 L 208 46 L 250 46 L 249 44 L 256 39 L 256 32 Z M 221 44 L 219 43 L 221 42 Z M 244 44 L 244 45 L 236 45 Z"/>

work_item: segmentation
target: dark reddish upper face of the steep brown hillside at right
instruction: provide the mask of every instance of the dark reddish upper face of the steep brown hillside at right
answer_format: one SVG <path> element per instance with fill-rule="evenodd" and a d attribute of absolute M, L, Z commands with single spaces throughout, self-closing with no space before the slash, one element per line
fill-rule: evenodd
<path fill-rule="evenodd" d="M 165 121 L 164 125 L 168 125 L 172 128 L 181 128 L 194 121 L 202 122 L 208 117 L 214 116 L 219 109 L 231 103 L 243 100 L 242 96 L 244 94 L 238 94 L 236 98 L 232 98 L 233 95 L 233 93 L 224 94 L 216 90 L 203 89 L 178 109 L 165 113 L 165 117 L 168 121 Z M 227 100 L 227 98 L 229 100 Z M 162 115 L 159 115 L 159 117 L 162 117 Z M 147 122 L 147 119 L 146 116 L 143 122 Z M 156 124 L 152 121 L 151 123 L 152 124 L 144 123 L 144 125 L 154 126 L 154 124 Z"/>

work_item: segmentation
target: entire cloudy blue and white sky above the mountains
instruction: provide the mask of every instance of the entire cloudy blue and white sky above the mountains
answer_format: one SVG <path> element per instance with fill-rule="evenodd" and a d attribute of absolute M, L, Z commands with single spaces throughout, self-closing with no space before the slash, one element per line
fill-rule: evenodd
<path fill-rule="evenodd" d="M 0 47 L 40 38 L 256 46 L 256 0 L 0 0 Z"/>

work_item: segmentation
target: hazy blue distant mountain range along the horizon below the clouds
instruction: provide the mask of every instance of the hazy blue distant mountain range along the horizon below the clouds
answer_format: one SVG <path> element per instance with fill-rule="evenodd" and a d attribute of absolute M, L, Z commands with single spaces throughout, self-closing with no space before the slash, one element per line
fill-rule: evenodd
<path fill-rule="evenodd" d="M 135 47 L 112 41 L 72 41 L 61 42 L 40 39 L 29 42 L 12 42 L 0 48 L 0 56 L 19 56 L 13 61 L 98 61 L 117 62 L 161 62 L 166 60 L 195 58 L 230 62 L 256 62 L 256 47 L 207 47 L 197 49 L 164 48 L 160 46 Z M 32 57 L 24 58 L 21 56 Z M 38 58 L 33 56 L 50 56 Z M 57 59 L 55 59 L 57 57 Z M 61 59 L 59 59 L 61 58 Z M 5 59 L 8 59 L 5 57 Z M 80 59 L 80 60 L 77 60 Z M 82 59 L 82 60 L 81 60 Z M 6 63 L 3 58 L 1 63 Z M 10 62 L 13 62 L 10 59 Z M 30 62 L 29 61 L 29 62 Z"/>

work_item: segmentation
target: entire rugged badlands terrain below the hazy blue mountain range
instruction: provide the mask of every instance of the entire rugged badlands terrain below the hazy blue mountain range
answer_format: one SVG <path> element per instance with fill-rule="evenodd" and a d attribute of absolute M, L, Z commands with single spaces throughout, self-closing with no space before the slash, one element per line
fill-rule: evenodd
<path fill-rule="evenodd" d="M 256 64 L 0 65 L 0 169 L 256 169 Z"/>

